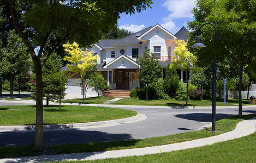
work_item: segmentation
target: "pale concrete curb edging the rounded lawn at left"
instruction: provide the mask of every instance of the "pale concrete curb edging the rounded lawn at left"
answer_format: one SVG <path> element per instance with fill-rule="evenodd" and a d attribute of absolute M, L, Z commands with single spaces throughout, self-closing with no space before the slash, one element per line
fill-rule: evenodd
<path fill-rule="evenodd" d="M 118 120 L 109 121 L 99 121 L 99 122 L 87 122 L 87 123 L 70 123 L 70 124 L 46 124 L 44 125 L 44 130 L 63 130 L 63 129 L 88 129 L 88 128 L 99 128 L 99 127 L 109 127 L 116 126 L 127 123 L 134 123 L 146 120 L 147 116 L 145 114 L 138 113 L 136 116 L 122 118 Z M 0 126 L 0 132 L 3 131 L 31 131 L 35 130 L 35 125 L 27 126 Z"/>

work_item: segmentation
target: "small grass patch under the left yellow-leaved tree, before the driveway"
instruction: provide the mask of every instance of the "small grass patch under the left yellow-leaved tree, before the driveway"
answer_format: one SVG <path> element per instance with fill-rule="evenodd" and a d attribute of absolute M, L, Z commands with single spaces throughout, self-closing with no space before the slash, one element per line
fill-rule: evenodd
<path fill-rule="evenodd" d="M 85 104 L 102 104 L 106 101 L 109 101 L 111 99 L 114 99 L 113 97 L 89 97 L 85 99 Z M 62 103 L 82 103 L 82 98 L 73 98 L 73 99 L 67 99 L 62 100 Z"/>

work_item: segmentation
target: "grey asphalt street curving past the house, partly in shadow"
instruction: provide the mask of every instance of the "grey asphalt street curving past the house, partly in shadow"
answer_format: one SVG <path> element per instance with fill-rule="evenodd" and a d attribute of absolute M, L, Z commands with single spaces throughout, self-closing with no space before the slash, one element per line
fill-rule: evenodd
<path fill-rule="evenodd" d="M 5 102 L 0 105 L 29 104 Z M 118 107 L 122 108 L 122 107 Z M 194 131 L 211 122 L 211 109 L 159 109 L 122 108 L 145 114 L 147 119 L 135 123 L 90 129 L 44 130 L 44 145 L 69 143 L 105 142 L 118 140 L 145 139 Z M 216 120 L 238 114 L 235 108 L 216 109 Z M 256 107 L 243 108 L 243 114 L 256 114 Z M 34 139 L 34 131 L 4 131 L 0 133 L 0 147 L 23 146 Z"/>

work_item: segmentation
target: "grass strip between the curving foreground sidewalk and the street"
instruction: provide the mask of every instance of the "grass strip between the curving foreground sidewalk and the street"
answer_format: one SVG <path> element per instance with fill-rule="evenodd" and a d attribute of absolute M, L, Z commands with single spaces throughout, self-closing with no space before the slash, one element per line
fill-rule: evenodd
<path fill-rule="evenodd" d="M 143 139 L 143 140 L 128 140 L 128 141 L 85 143 L 85 144 L 80 143 L 80 144 L 72 144 L 72 145 L 49 146 L 47 148 L 52 149 L 52 151 L 56 151 L 55 153 L 52 153 L 52 154 L 64 154 L 64 153 L 78 153 L 78 152 L 111 151 L 111 150 L 118 150 L 118 149 L 130 149 L 130 148 L 142 148 L 142 147 L 166 145 L 170 143 L 190 141 L 190 140 L 195 140 L 195 139 L 200 139 L 204 137 L 210 137 L 210 136 L 226 133 L 228 131 L 234 130 L 237 123 L 252 117 L 256 117 L 256 114 L 243 115 L 242 118 L 238 118 L 237 116 L 234 116 L 230 118 L 225 118 L 223 120 L 219 120 L 216 122 L 216 132 L 212 132 L 211 128 L 209 128 L 209 129 L 191 131 L 191 132 L 175 134 L 175 135 L 152 137 L 152 138 Z M 12 148 L 14 147 L 0 148 L 0 153 L 1 153 L 0 157 L 7 158 L 7 157 L 14 157 L 14 156 L 23 156 L 22 152 L 21 153 L 11 152 Z M 20 150 L 25 151 L 25 150 L 22 150 L 22 147 L 20 147 Z M 33 148 L 31 148 L 30 151 L 33 151 Z M 30 155 L 37 155 L 37 154 L 38 153 L 34 153 L 34 152 L 30 153 Z"/>

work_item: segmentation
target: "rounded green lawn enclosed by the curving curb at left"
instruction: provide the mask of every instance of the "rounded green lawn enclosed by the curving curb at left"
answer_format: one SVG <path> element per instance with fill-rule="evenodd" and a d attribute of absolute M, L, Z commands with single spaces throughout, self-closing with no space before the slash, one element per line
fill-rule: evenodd
<path fill-rule="evenodd" d="M 137 115 L 137 112 L 95 106 L 44 107 L 44 124 L 66 124 L 115 120 Z M 35 124 L 35 105 L 0 106 L 0 125 Z"/>

